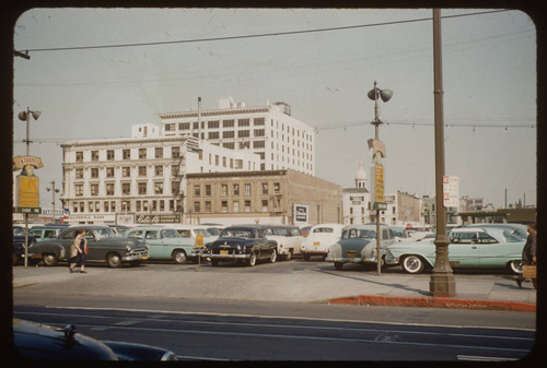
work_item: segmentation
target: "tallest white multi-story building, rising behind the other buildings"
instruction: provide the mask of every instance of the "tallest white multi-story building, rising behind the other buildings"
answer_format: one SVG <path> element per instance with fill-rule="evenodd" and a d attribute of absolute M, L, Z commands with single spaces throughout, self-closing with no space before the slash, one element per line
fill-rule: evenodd
<path fill-rule="evenodd" d="M 164 136 L 189 134 L 231 150 L 260 156 L 260 170 L 293 169 L 315 176 L 314 128 L 294 119 L 290 106 L 276 103 L 246 107 L 231 97 L 218 109 L 160 114 Z"/>

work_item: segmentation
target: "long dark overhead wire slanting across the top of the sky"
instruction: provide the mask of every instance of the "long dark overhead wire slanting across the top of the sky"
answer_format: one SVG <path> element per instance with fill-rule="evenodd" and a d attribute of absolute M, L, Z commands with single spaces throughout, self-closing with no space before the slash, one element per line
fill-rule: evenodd
<path fill-rule="evenodd" d="M 443 19 L 451 19 L 451 17 L 500 13 L 500 12 L 508 12 L 508 11 L 511 11 L 511 10 L 508 10 L 508 9 L 491 10 L 491 11 L 475 12 L 475 13 L 444 15 L 442 17 Z M 316 28 L 316 29 L 275 32 L 275 33 L 244 35 L 244 36 L 225 36 L 225 37 L 210 37 L 210 38 L 195 38 L 195 39 L 179 39 L 179 40 L 167 40 L 167 41 L 118 44 L 118 45 L 33 48 L 33 49 L 23 49 L 23 51 L 28 54 L 28 52 L 38 52 L 38 51 L 68 51 L 68 50 L 89 50 L 89 49 L 101 49 L 101 48 L 143 47 L 143 46 L 162 46 L 162 45 L 174 45 L 174 44 L 206 43 L 206 41 L 244 39 L 244 38 L 289 36 L 289 35 L 299 35 L 299 34 L 306 34 L 306 33 L 318 33 L 318 32 L 346 31 L 346 29 L 354 29 L 354 28 L 377 27 L 377 26 L 384 26 L 384 25 L 396 25 L 396 24 L 405 24 L 405 23 L 426 22 L 426 21 L 431 21 L 431 20 L 432 20 L 432 17 L 419 17 L 419 19 L 404 20 L 404 21 L 391 21 L 391 22 L 370 23 L 370 24 L 360 24 L 360 25 L 348 25 L 348 26 L 340 26 L 340 27 Z M 20 51 L 15 51 L 15 52 L 20 52 Z"/>

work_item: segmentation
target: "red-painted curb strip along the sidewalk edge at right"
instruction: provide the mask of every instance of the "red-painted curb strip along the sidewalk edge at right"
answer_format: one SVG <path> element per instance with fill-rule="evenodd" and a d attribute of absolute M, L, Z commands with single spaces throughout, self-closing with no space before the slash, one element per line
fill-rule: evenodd
<path fill-rule="evenodd" d="M 389 297 L 358 295 L 328 299 L 329 304 L 386 307 L 432 307 L 535 312 L 536 305 L 520 301 L 455 299 L 443 297 Z"/>

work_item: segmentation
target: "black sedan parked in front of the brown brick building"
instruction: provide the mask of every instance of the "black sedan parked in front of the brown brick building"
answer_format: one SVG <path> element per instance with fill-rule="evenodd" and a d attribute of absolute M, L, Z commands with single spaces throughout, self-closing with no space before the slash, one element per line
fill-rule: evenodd
<path fill-rule="evenodd" d="M 265 232 L 266 228 L 260 225 L 229 226 L 217 240 L 205 246 L 203 257 L 209 258 L 212 265 L 218 265 L 220 261 L 244 261 L 253 266 L 258 259 L 268 259 L 274 263 L 277 260 L 277 242 L 268 239 Z"/>

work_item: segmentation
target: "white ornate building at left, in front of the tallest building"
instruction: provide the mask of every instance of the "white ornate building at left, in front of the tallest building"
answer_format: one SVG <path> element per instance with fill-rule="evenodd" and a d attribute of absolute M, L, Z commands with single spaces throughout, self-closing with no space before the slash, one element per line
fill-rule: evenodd
<path fill-rule="evenodd" d="M 187 173 L 260 167 L 259 155 L 249 150 L 226 150 L 189 135 L 161 136 L 154 124 L 133 126 L 131 135 L 61 144 L 68 223 L 179 223 Z"/>

